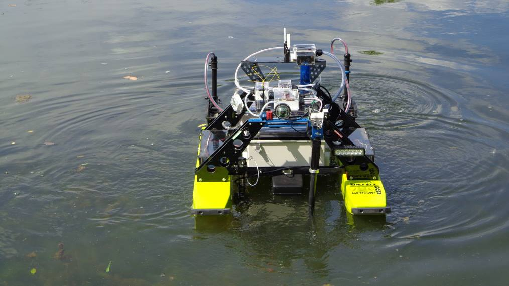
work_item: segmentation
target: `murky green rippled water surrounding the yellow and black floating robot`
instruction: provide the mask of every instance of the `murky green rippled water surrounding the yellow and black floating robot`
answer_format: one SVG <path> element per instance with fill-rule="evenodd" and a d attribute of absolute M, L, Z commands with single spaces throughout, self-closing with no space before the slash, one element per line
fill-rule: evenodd
<path fill-rule="evenodd" d="M 508 11 L 503 0 L 3 1 L 0 285 L 507 284 Z M 219 56 L 229 101 L 238 61 L 279 45 L 283 26 L 294 43 L 350 44 L 358 122 L 392 213 L 351 221 L 322 182 L 314 225 L 305 196 L 261 188 L 230 221 L 196 229 L 205 55 Z"/>

